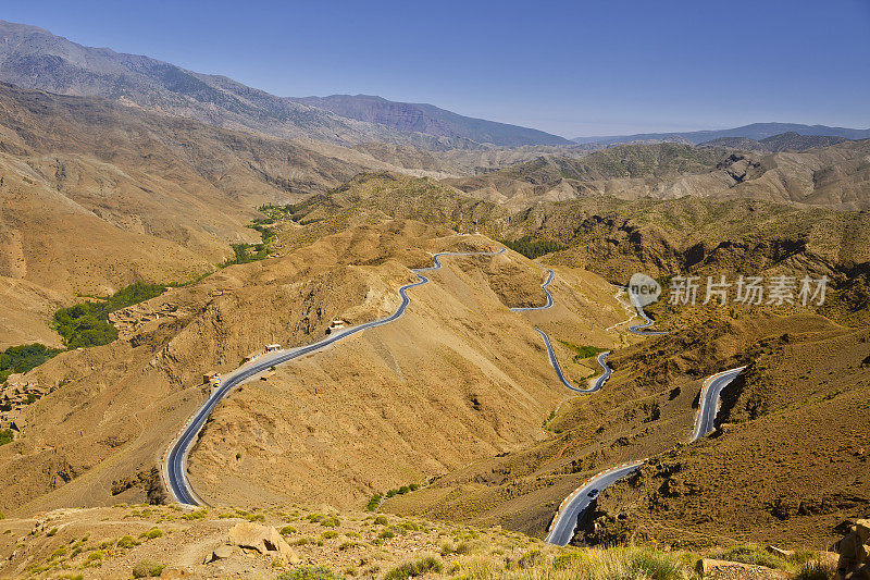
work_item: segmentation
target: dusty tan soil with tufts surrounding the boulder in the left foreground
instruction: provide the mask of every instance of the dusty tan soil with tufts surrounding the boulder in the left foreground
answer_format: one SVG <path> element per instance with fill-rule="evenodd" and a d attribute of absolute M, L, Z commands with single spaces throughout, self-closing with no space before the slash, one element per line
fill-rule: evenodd
<path fill-rule="evenodd" d="M 149 560 L 164 567 L 162 578 L 275 578 L 286 569 L 302 566 L 324 566 L 337 573 L 376 578 L 425 555 L 437 557 L 449 568 L 469 553 L 515 562 L 540 544 L 499 529 L 398 516 L 382 516 L 375 522 L 375 517 L 298 505 L 195 513 L 146 505 L 59 509 L 32 519 L 0 521 L 0 578 L 80 575 L 126 580 L 137 564 Z M 246 521 L 283 530 L 298 562 L 283 563 L 274 555 L 236 547 L 228 557 L 206 563 L 215 548 L 228 542 L 229 530 Z M 461 554 L 440 555 L 444 546 L 461 543 L 465 546 L 460 548 Z"/>

